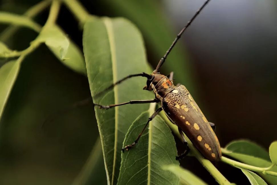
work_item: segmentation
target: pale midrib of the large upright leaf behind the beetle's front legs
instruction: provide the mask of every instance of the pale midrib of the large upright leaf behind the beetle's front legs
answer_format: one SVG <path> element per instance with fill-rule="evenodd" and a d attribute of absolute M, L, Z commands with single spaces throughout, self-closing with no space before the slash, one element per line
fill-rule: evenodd
<path fill-rule="evenodd" d="M 104 18 L 103 19 L 104 25 L 107 29 L 107 35 L 109 39 L 110 44 L 110 50 L 111 50 L 111 62 L 112 62 L 112 71 L 113 71 L 113 83 L 116 82 L 117 79 L 117 68 L 116 68 L 116 47 L 115 47 L 115 39 L 113 35 L 113 27 L 110 19 Z M 118 103 L 118 87 L 114 87 L 114 100 L 115 104 Z M 115 177 L 115 163 L 116 163 L 116 157 L 117 157 L 117 135 L 118 135 L 118 107 L 115 107 L 115 144 L 114 144 L 114 153 L 113 153 L 113 173 L 112 173 L 112 181 L 111 184 L 113 185 L 114 177 Z"/>

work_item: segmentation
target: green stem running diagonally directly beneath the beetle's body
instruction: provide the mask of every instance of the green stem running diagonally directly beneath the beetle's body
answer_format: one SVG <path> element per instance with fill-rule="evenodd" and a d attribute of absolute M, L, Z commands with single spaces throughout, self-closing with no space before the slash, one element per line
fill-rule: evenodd
<path fill-rule="evenodd" d="M 162 118 L 166 121 L 166 123 L 168 124 L 168 126 L 170 127 L 170 129 L 176 134 L 176 136 L 180 136 L 179 132 L 178 132 L 178 128 L 176 125 L 172 124 L 172 122 L 170 122 L 168 120 L 168 118 L 166 117 L 166 115 L 164 114 L 164 112 L 160 113 L 160 115 L 162 116 Z M 189 140 L 189 138 L 184 135 L 186 138 L 186 141 L 188 142 L 188 147 L 190 148 L 192 154 L 197 158 L 197 160 L 204 166 L 204 168 L 206 168 L 206 170 L 208 172 L 210 172 L 210 174 L 213 176 L 213 178 L 215 178 L 215 180 L 219 183 L 219 184 L 231 184 L 218 170 L 217 168 L 215 168 L 215 166 L 207 159 L 205 159 L 200 152 L 194 147 L 194 145 L 192 144 L 192 142 Z"/>

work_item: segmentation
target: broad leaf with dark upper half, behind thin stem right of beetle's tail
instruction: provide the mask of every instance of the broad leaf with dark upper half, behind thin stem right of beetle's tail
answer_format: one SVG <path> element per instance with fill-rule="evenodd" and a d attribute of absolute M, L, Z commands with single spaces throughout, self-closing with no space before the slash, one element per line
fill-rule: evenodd
<path fill-rule="evenodd" d="M 241 144 L 242 142 L 245 144 Z M 257 145 L 256 143 L 246 140 L 237 140 L 227 144 L 225 149 L 227 149 L 229 152 L 224 154 L 240 160 L 241 162 L 244 162 L 246 164 L 263 168 L 272 165 L 268 157 L 268 153 L 265 155 L 264 148 Z M 277 172 L 277 166 L 274 166 L 270 171 Z M 269 184 L 277 184 L 277 177 L 265 175 L 262 173 L 258 174 Z"/>

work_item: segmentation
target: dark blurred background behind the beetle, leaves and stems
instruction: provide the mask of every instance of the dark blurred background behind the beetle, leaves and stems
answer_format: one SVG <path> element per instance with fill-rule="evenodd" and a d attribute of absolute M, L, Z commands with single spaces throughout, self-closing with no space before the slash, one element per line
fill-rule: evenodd
<path fill-rule="evenodd" d="M 2 0 L 0 9 L 21 14 L 38 2 Z M 121 16 L 133 21 L 142 31 L 148 61 L 154 67 L 203 3 L 81 2 L 93 15 Z M 47 16 L 48 9 L 35 20 L 43 25 Z M 58 24 L 82 48 L 82 30 L 64 6 Z M 5 27 L 0 25 L 0 30 Z M 33 31 L 20 29 L 7 45 L 22 50 L 35 37 Z M 178 69 L 174 71 L 176 83 L 190 90 L 208 120 L 216 124 L 222 146 L 248 138 L 268 148 L 277 139 L 276 40 L 276 1 L 212 0 L 169 55 L 162 72 Z M 0 65 L 3 63 L 5 60 Z M 71 184 L 99 135 L 93 107 L 71 110 L 43 128 L 42 123 L 89 96 L 87 78 L 62 65 L 45 46 L 29 55 L 0 121 L 0 184 Z M 181 151 L 178 141 L 177 146 Z M 182 165 L 207 183 L 214 183 L 194 158 L 184 159 Z M 239 170 L 223 163 L 216 166 L 229 181 L 247 184 Z M 105 178 L 101 168 L 91 182 L 105 184 Z"/>

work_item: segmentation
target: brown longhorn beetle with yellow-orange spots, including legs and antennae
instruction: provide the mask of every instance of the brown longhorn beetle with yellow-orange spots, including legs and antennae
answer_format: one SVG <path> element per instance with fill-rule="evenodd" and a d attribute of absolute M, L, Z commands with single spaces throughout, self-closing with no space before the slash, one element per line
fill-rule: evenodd
<path fill-rule="evenodd" d="M 176 39 L 173 41 L 172 45 L 166 51 L 165 55 L 160 59 L 156 69 L 152 72 L 152 74 L 147 73 L 139 73 L 128 75 L 127 77 L 117 81 L 116 83 L 109 86 L 104 91 L 113 88 L 115 85 L 121 83 L 132 77 L 146 77 L 146 86 L 143 87 L 144 90 L 154 91 L 155 99 L 153 100 L 131 100 L 129 102 L 119 103 L 119 104 L 111 104 L 111 105 L 99 105 L 93 104 L 94 106 L 99 106 L 102 109 L 109 109 L 115 106 L 121 106 L 125 104 L 139 104 L 139 103 L 151 103 L 151 102 L 161 102 L 161 107 L 158 108 L 148 121 L 146 122 L 143 130 L 140 132 L 139 136 L 132 144 L 129 144 L 122 148 L 122 151 L 129 150 L 133 146 L 135 146 L 148 123 L 162 110 L 166 113 L 166 116 L 169 120 L 178 126 L 179 133 L 182 136 L 182 140 L 184 144 L 187 146 L 187 142 L 184 138 L 183 132 L 188 136 L 188 138 L 192 141 L 194 146 L 201 152 L 201 154 L 211 161 L 217 161 L 221 158 L 221 149 L 220 144 L 215 135 L 213 123 L 210 123 L 205 118 L 204 114 L 195 103 L 194 99 L 190 95 L 189 91 L 186 89 L 184 85 L 173 84 L 173 72 L 170 75 L 165 76 L 160 74 L 160 67 L 166 60 L 166 57 L 177 43 L 178 39 L 180 39 L 182 33 L 190 26 L 192 21 L 197 17 L 197 15 L 201 12 L 201 10 L 207 5 L 210 0 L 206 0 L 205 3 L 200 7 L 200 9 L 194 14 L 192 19 L 188 21 L 187 25 L 180 31 L 177 35 Z M 102 91 L 103 92 L 103 91 Z M 99 94 L 97 94 L 99 95 Z M 96 95 L 96 96 L 97 96 Z M 189 152 L 189 148 L 187 146 L 187 150 L 180 156 L 176 157 L 176 160 L 181 159 Z"/>

